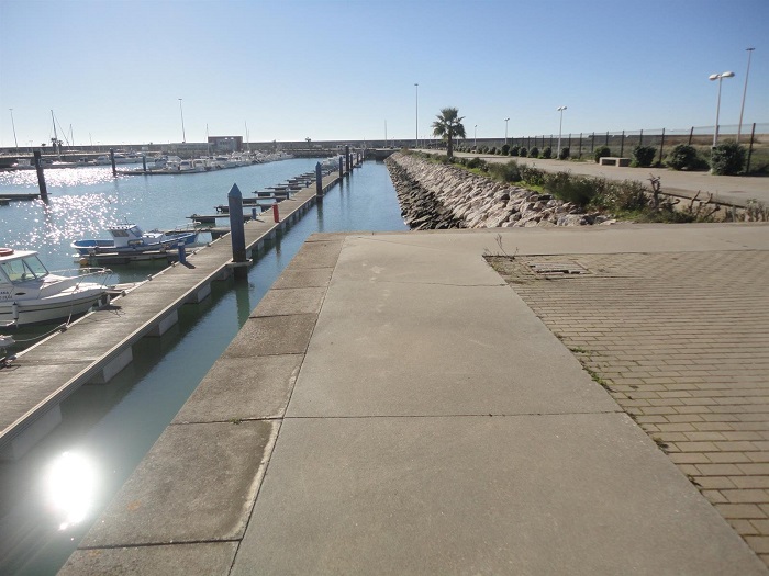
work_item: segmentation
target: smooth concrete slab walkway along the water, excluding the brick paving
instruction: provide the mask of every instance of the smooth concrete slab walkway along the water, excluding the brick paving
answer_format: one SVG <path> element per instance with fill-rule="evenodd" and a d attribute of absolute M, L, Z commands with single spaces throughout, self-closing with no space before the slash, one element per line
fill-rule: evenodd
<path fill-rule="evenodd" d="M 483 258 L 767 250 L 736 225 L 313 236 L 62 574 L 769 574 Z"/>

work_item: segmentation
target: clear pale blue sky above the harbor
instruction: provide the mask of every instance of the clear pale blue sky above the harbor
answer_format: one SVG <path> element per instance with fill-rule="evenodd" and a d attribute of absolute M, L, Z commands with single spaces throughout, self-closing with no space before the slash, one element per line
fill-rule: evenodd
<path fill-rule="evenodd" d="M 765 123 L 769 0 L 0 0 L 0 146 L 736 124 L 749 46 Z"/>

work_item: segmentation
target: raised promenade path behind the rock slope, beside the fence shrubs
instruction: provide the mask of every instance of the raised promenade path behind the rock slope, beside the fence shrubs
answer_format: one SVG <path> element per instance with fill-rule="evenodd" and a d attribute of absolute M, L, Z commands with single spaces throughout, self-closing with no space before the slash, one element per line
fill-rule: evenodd
<path fill-rule="evenodd" d="M 423 150 L 434 154 L 435 150 Z M 745 206 L 749 200 L 758 200 L 769 206 L 769 177 L 742 177 L 742 176 L 713 176 L 710 172 L 680 172 L 667 168 L 629 168 L 616 166 L 600 166 L 592 161 L 564 161 L 544 160 L 538 158 L 516 158 L 512 156 L 476 155 L 455 153 L 458 157 L 479 157 L 489 162 L 505 163 L 516 160 L 521 163 L 534 166 L 547 172 L 570 171 L 575 174 L 583 174 L 610 180 L 638 180 L 649 185 L 649 177 L 660 177 L 662 192 L 693 197 L 701 191 L 700 200 L 706 200 L 707 193 L 713 193 L 713 199 Z"/>

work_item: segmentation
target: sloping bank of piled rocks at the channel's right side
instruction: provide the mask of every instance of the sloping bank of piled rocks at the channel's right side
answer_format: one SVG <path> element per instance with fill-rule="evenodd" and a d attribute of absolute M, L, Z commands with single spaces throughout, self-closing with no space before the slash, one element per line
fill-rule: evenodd
<path fill-rule="evenodd" d="M 398 153 L 387 159 L 412 229 L 583 226 L 614 222 L 525 188 Z"/>

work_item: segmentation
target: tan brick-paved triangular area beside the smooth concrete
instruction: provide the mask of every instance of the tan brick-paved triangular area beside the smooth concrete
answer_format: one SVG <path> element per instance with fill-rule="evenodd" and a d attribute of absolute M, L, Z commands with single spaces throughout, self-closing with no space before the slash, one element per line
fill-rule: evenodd
<path fill-rule="evenodd" d="M 489 261 L 769 565 L 769 253 Z"/>

